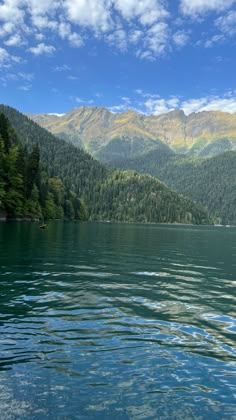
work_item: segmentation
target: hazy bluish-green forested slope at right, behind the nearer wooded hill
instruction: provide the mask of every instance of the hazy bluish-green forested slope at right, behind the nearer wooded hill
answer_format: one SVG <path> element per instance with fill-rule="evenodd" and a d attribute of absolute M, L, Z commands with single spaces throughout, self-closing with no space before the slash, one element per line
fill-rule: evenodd
<path fill-rule="evenodd" d="M 156 151 L 115 166 L 156 176 L 206 206 L 219 222 L 236 224 L 236 152 L 199 159 Z"/>

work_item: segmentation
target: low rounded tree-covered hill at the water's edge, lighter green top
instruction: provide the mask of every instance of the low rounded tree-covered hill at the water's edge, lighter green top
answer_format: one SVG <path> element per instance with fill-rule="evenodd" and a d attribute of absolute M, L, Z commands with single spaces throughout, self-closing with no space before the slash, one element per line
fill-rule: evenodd
<path fill-rule="evenodd" d="M 113 171 L 99 185 L 93 218 L 102 220 L 207 223 L 206 212 L 156 178 L 135 171 Z"/>

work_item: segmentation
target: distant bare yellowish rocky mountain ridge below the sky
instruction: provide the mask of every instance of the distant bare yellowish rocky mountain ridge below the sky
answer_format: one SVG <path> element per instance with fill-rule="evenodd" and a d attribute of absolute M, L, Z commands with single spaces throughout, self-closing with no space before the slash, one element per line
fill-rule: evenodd
<path fill-rule="evenodd" d="M 186 116 L 174 110 L 147 116 L 132 110 L 114 114 L 105 108 L 81 106 L 63 116 L 29 117 L 103 162 L 139 157 L 160 143 L 177 153 L 199 157 L 236 150 L 236 114 L 220 111 Z"/>

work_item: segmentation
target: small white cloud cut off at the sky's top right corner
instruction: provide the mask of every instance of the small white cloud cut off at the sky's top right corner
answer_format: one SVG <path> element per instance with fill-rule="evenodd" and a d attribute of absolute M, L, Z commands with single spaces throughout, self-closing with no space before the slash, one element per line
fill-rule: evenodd
<path fill-rule="evenodd" d="M 180 10 L 184 15 L 196 16 L 207 12 L 222 12 L 235 0 L 180 0 Z"/>

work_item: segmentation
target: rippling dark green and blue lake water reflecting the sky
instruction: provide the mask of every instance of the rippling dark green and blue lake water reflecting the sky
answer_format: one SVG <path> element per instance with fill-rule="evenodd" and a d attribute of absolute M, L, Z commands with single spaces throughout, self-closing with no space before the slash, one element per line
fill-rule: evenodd
<path fill-rule="evenodd" d="M 0 224 L 0 418 L 236 419 L 236 228 Z"/>

